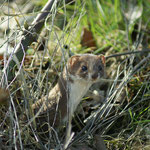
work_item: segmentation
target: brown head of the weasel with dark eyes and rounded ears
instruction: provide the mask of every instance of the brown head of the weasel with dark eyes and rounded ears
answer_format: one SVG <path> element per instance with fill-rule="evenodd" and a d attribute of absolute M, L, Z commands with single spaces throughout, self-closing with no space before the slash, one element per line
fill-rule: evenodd
<path fill-rule="evenodd" d="M 103 55 L 74 55 L 68 60 L 68 74 L 74 80 L 97 82 L 104 76 L 105 57 Z"/>

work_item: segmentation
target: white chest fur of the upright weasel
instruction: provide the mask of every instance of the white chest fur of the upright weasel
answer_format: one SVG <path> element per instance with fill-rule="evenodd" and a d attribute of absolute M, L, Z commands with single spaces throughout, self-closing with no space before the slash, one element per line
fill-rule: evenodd
<path fill-rule="evenodd" d="M 76 80 L 74 83 L 69 85 L 69 112 L 73 116 L 78 104 L 80 103 L 82 97 L 87 93 L 92 83 Z"/>

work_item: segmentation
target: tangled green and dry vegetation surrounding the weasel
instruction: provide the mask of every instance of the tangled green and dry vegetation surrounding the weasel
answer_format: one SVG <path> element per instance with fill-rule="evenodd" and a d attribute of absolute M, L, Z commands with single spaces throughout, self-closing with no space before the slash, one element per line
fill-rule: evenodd
<path fill-rule="evenodd" d="M 70 149 L 86 143 L 87 150 L 98 150 L 100 135 L 109 150 L 149 150 L 150 1 L 54 0 L 28 45 L 27 33 L 46 3 L 3 0 L 0 6 L 0 86 L 7 89 L 0 89 L 0 149 L 60 149 L 65 130 L 61 136 L 52 130 L 42 142 L 31 105 L 54 87 L 71 55 L 93 53 L 106 57 L 106 77 L 90 89 L 101 99 L 83 98 Z M 13 53 L 25 38 L 17 59 Z M 8 102 L 1 102 L 2 94 Z"/>

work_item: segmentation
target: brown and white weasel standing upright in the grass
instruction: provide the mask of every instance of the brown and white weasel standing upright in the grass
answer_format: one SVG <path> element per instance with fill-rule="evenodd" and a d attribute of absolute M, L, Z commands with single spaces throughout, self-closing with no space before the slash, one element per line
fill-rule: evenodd
<path fill-rule="evenodd" d="M 39 113 L 37 123 L 61 126 L 68 121 L 70 136 L 71 120 L 78 104 L 90 86 L 104 76 L 104 71 L 103 55 L 81 54 L 69 58 L 56 86 L 32 105 L 34 113 Z"/>

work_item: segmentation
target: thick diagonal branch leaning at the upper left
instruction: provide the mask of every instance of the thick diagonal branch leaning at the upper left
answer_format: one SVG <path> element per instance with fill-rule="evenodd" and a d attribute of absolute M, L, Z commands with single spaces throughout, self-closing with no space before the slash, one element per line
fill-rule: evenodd
<path fill-rule="evenodd" d="M 32 42 L 36 41 L 36 35 L 40 33 L 42 27 L 44 26 L 46 17 L 51 12 L 53 4 L 56 2 L 57 0 L 49 0 L 41 10 L 41 13 L 38 14 L 35 20 L 32 22 L 32 26 L 30 27 L 30 29 L 24 30 L 21 41 L 16 46 L 14 54 L 12 54 L 11 56 L 12 59 L 6 67 L 7 78 L 9 81 L 12 81 L 12 79 L 14 78 L 12 70 L 16 65 L 15 58 L 17 58 L 19 62 L 21 62 L 24 59 L 24 55 L 28 49 L 28 46 L 30 46 Z"/>

